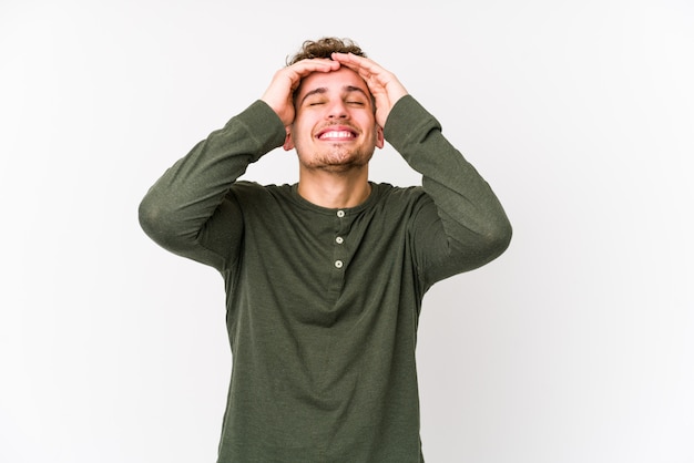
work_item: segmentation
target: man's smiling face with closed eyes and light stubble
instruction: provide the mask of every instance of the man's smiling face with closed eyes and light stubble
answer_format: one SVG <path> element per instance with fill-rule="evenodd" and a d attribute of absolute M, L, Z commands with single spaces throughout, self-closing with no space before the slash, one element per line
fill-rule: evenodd
<path fill-rule="evenodd" d="M 366 82 L 353 70 L 314 72 L 302 81 L 285 150 L 296 148 L 303 168 L 347 172 L 368 164 L 384 146 Z"/>

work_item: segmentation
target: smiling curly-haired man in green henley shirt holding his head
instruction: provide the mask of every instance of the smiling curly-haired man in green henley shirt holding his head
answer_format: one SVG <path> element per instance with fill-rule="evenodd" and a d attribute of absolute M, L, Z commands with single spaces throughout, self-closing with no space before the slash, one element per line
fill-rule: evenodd
<path fill-rule="evenodd" d="M 368 179 L 387 140 L 422 186 Z M 237 178 L 296 150 L 296 185 Z M 350 41 L 304 43 L 263 97 L 156 182 L 164 248 L 224 277 L 233 369 L 218 462 L 420 462 L 425 292 L 507 248 L 497 197 L 398 79 Z"/>

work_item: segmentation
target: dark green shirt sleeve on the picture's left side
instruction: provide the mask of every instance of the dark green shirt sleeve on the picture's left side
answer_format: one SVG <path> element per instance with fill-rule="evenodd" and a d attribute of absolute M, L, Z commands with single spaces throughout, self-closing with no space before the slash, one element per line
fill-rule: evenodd
<path fill-rule="evenodd" d="M 236 259 L 243 217 L 229 189 L 248 164 L 280 146 L 282 121 L 256 101 L 170 167 L 140 204 L 143 230 L 160 246 L 222 269 Z"/>

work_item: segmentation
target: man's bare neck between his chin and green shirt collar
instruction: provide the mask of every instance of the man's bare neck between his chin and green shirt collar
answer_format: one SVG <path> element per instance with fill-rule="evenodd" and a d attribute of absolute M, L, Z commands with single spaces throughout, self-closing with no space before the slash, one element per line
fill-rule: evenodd
<path fill-rule="evenodd" d="M 371 194 L 368 167 L 345 173 L 323 169 L 299 171 L 299 195 L 317 206 L 327 208 L 356 207 Z"/>

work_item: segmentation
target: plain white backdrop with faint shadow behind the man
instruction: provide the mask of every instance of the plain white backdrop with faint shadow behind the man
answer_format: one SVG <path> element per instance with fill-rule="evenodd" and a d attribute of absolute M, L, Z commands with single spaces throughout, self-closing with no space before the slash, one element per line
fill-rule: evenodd
<path fill-rule="evenodd" d="M 222 278 L 137 205 L 323 35 L 395 72 L 514 227 L 426 296 L 427 461 L 693 462 L 688 0 L 1 0 L 0 462 L 215 461 Z M 371 174 L 420 182 L 390 145 Z"/>

